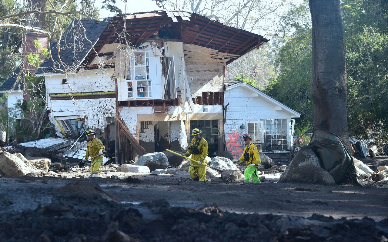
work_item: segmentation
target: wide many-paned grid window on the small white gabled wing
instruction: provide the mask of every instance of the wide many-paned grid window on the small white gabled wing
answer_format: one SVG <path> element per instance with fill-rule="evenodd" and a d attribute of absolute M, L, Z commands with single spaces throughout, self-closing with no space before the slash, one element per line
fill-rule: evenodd
<path fill-rule="evenodd" d="M 287 119 L 262 119 L 264 124 L 263 151 L 288 150 Z"/>

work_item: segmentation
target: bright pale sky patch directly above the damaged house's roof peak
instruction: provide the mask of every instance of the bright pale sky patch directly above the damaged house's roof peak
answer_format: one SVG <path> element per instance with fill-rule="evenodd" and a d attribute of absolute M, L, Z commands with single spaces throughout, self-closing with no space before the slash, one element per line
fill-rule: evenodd
<path fill-rule="evenodd" d="M 101 0 L 97 0 L 98 7 L 101 7 Z M 126 0 L 126 3 L 123 0 L 116 0 L 116 6 L 120 8 L 124 13 L 132 14 L 134 12 L 149 12 L 154 10 L 161 10 L 155 1 L 152 0 Z M 100 10 L 100 17 L 111 17 L 116 14 L 109 12 L 106 9 Z"/>

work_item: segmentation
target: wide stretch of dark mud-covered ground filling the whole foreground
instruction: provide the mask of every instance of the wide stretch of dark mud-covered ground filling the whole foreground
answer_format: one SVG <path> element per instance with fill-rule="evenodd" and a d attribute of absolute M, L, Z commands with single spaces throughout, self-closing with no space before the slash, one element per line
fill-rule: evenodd
<path fill-rule="evenodd" d="M 385 188 L 75 177 L 0 177 L 0 241 L 388 239 Z"/>

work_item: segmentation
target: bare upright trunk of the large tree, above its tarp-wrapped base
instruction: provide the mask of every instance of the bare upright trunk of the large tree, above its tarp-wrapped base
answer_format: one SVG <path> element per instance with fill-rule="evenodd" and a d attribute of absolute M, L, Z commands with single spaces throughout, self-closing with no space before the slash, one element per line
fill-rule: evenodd
<path fill-rule="evenodd" d="M 312 19 L 314 128 L 348 142 L 345 39 L 340 0 L 309 0 Z"/>

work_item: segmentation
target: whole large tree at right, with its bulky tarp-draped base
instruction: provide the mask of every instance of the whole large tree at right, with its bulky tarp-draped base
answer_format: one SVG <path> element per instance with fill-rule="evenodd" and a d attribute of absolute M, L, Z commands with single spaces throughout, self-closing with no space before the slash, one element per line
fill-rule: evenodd
<path fill-rule="evenodd" d="M 280 182 L 357 184 L 348 142 L 345 41 L 340 0 L 309 0 L 314 134 Z"/>

